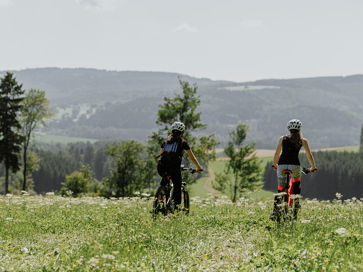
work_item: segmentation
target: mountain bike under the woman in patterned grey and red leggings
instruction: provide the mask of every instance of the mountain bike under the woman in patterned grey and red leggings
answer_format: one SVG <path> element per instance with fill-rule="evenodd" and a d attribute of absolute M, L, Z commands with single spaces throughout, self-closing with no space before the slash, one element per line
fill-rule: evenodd
<path fill-rule="evenodd" d="M 275 166 L 271 165 L 273 168 Z M 276 169 L 276 168 L 275 168 Z M 311 172 L 315 172 L 317 169 L 314 169 Z M 277 198 L 277 213 L 276 218 L 272 218 L 270 216 L 270 219 L 276 219 L 277 222 L 281 221 L 281 218 L 285 221 L 286 218 L 291 218 L 292 220 L 296 220 L 297 213 L 299 209 L 301 209 L 300 202 L 296 202 L 295 198 L 292 198 L 293 190 L 294 190 L 294 182 L 292 178 L 292 173 L 289 170 L 283 170 L 284 173 L 287 174 L 286 176 L 286 182 L 285 187 L 281 190 L 281 195 Z M 303 167 L 301 168 L 301 172 L 303 174 L 311 173 L 309 168 Z M 291 176 L 291 178 L 290 178 Z M 285 193 L 285 194 L 284 194 Z"/>

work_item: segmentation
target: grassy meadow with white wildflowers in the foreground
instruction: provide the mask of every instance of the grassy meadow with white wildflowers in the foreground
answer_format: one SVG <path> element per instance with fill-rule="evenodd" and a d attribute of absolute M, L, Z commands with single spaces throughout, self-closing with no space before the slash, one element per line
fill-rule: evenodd
<path fill-rule="evenodd" d="M 301 201 L 268 220 L 253 193 L 192 198 L 188 216 L 152 220 L 153 198 L 0 197 L 1 271 L 362 271 L 359 199 Z M 25 200 L 26 199 L 26 200 Z"/>

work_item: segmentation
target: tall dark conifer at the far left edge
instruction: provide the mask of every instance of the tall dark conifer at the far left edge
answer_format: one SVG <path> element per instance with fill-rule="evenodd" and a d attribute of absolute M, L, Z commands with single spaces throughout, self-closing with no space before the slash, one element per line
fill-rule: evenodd
<path fill-rule="evenodd" d="M 19 111 L 24 91 L 13 74 L 7 72 L 0 83 L 0 162 L 5 164 L 5 193 L 9 192 L 9 169 L 20 169 L 19 154 L 23 137 L 19 133 Z"/>

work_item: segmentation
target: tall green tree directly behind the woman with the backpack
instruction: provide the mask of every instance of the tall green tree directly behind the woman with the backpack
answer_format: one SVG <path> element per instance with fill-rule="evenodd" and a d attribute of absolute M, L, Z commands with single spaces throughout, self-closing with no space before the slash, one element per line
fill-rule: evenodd
<path fill-rule="evenodd" d="M 180 78 L 179 83 L 183 90 L 182 94 L 174 94 L 174 98 L 165 97 L 164 104 L 159 106 L 156 124 L 162 126 L 162 128 L 159 129 L 158 133 L 154 132 L 150 136 L 148 148 L 152 153 L 149 160 L 154 160 L 154 157 L 159 154 L 163 139 L 171 133 L 171 124 L 175 121 L 180 121 L 184 123 L 186 128 L 183 138 L 187 140 L 196 158 L 206 164 L 210 160 L 215 160 L 215 149 L 219 143 L 214 139 L 214 134 L 200 137 L 199 141 L 196 137 L 192 136 L 193 131 L 203 130 L 207 128 L 207 125 L 201 122 L 201 112 L 196 112 L 197 106 L 200 105 L 200 98 L 196 96 L 196 84 L 192 87 L 188 82 L 181 81 Z M 156 156 L 154 156 L 155 154 Z M 186 157 L 185 160 L 189 164 L 189 157 Z"/>

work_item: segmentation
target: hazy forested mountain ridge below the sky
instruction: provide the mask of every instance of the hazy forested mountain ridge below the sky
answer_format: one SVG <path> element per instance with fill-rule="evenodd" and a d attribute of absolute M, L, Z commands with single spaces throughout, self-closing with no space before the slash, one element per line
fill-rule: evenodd
<path fill-rule="evenodd" d="M 208 128 L 196 134 L 216 133 L 221 147 L 241 122 L 249 124 L 247 140 L 256 141 L 256 148 L 274 149 L 293 118 L 302 121 L 302 133 L 313 149 L 360 144 L 363 75 L 236 83 L 163 72 L 59 68 L 11 72 L 23 88 L 46 91 L 57 111 L 48 134 L 146 140 L 158 129 L 155 120 L 163 98 L 181 92 L 180 77 L 198 86 L 197 110 L 203 112 Z M 255 85 L 266 88 L 248 87 Z M 237 90 L 225 88 L 231 86 Z"/>

